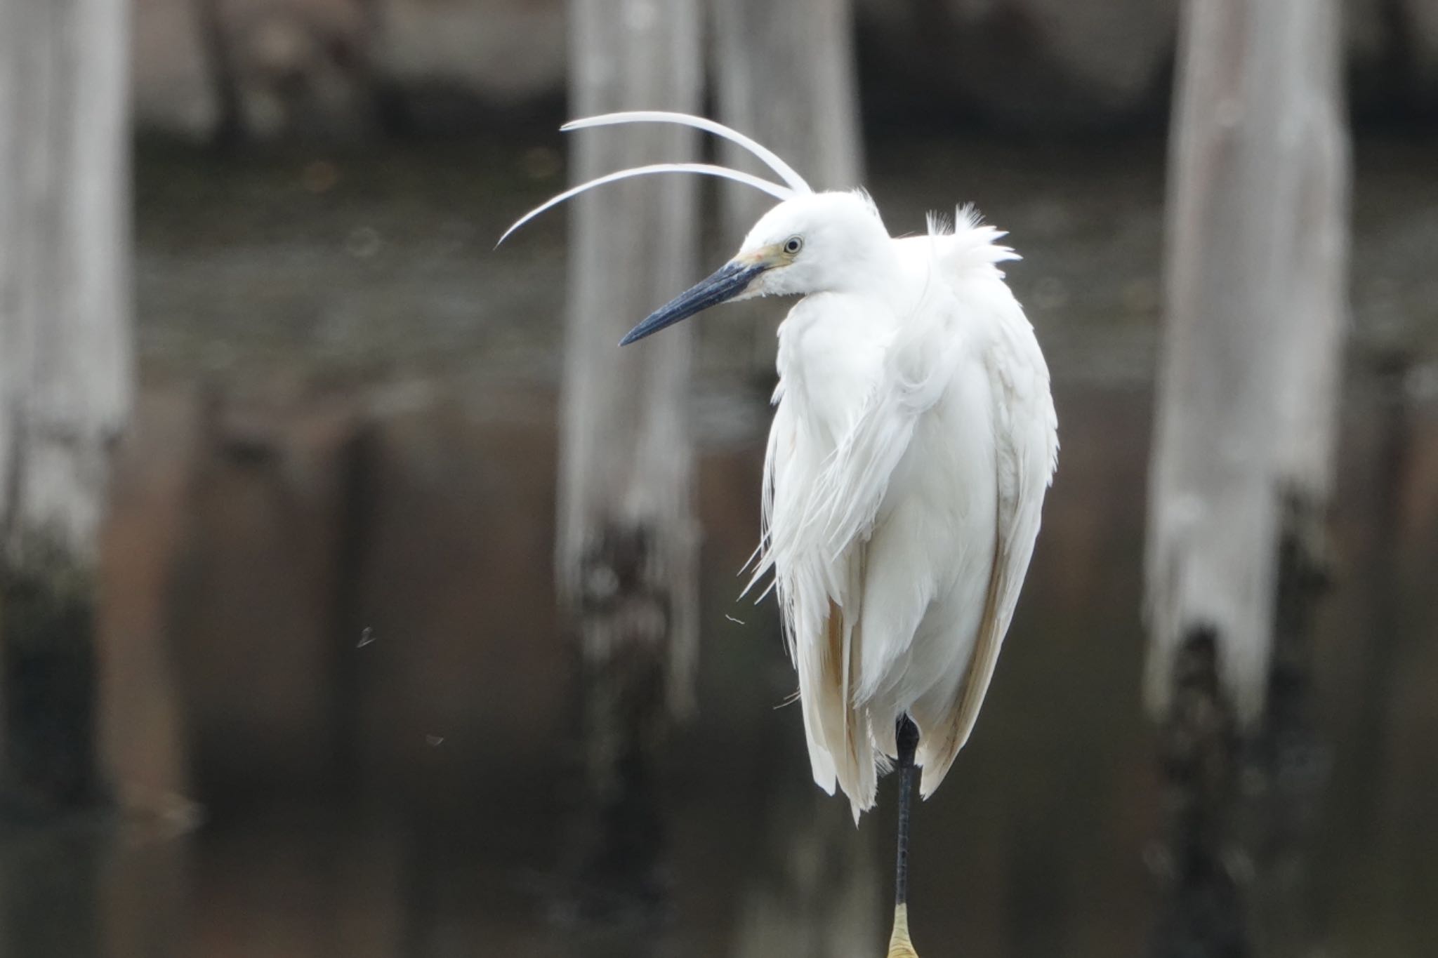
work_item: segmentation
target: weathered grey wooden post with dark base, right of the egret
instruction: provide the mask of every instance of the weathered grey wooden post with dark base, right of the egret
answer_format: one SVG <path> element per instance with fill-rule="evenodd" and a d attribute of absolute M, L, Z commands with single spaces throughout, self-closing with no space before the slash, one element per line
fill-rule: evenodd
<path fill-rule="evenodd" d="M 1250 839 L 1311 806 L 1278 773 L 1311 743 L 1346 316 L 1340 70 L 1333 0 L 1183 6 L 1146 557 L 1172 869 L 1155 955 L 1248 954 L 1250 916 L 1263 954 L 1303 944 L 1264 941 L 1301 925 L 1303 836 Z"/>

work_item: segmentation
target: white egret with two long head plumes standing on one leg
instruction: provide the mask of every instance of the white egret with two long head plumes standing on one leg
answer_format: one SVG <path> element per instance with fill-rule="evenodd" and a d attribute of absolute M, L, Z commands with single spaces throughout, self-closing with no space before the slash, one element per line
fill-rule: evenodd
<path fill-rule="evenodd" d="M 564 129 L 630 122 L 723 136 L 784 184 L 709 164 L 637 167 L 567 190 L 509 231 L 588 188 L 656 172 L 726 177 L 781 201 L 729 263 L 620 345 L 725 300 L 802 297 L 779 326 L 755 580 L 774 573 L 814 781 L 843 789 L 857 823 L 879 774 L 899 771 L 890 955 L 913 955 L 912 771 L 933 794 L 968 741 L 1057 464 L 1048 368 L 998 269 L 1017 257 L 972 210 L 892 238 L 863 191 L 815 192 L 703 118 L 640 111 Z"/>

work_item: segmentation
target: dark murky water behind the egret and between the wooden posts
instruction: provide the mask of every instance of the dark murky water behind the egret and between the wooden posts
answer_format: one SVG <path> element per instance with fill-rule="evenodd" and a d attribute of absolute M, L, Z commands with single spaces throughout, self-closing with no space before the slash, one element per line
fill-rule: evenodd
<path fill-rule="evenodd" d="M 568 919 L 572 652 L 549 585 L 562 217 L 489 251 L 559 181 L 555 142 L 142 155 L 145 389 L 108 546 L 108 715 L 121 778 L 184 783 L 204 824 L 4 833 L 0 954 L 881 954 L 892 794 L 854 829 L 810 784 L 774 609 L 733 600 L 766 412 L 722 330 L 695 389 L 706 631 L 654 820 L 661 903 Z M 1316 649 L 1327 955 L 1438 954 L 1431 157 L 1359 151 L 1337 580 Z M 913 141 L 871 169 L 894 230 L 969 198 L 1011 230 L 1063 438 L 984 717 L 916 814 L 916 941 L 928 958 L 1140 954 L 1162 151 Z"/>

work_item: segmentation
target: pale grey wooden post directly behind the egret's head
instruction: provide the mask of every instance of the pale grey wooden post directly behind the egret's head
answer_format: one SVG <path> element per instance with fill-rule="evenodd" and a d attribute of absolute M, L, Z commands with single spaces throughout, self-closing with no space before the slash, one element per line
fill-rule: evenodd
<path fill-rule="evenodd" d="M 774 149 L 815 190 L 861 185 L 851 0 L 713 0 L 713 26 L 719 119 Z M 722 155 L 726 165 L 774 177 L 736 147 L 726 144 Z M 729 254 L 775 200 L 733 185 L 720 195 Z M 784 310 L 768 303 L 723 313 L 709 335 L 726 355 L 772 378 Z"/>

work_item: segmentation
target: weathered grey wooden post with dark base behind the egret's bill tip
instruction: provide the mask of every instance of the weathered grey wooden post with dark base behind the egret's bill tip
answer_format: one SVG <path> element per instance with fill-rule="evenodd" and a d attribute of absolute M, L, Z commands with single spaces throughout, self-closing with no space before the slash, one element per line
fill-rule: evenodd
<path fill-rule="evenodd" d="M 574 0 L 571 113 L 696 112 L 695 0 Z M 693 131 L 646 124 L 574 134 L 572 175 L 693 155 Z M 647 882 L 656 745 L 693 699 L 697 536 L 692 514 L 687 323 L 620 349 L 630 326 L 699 279 L 693 177 L 604 187 L 571 220 L 558 576 L 584 658 L 588 804 L 582 856 L 603 888 Z M 615 880 L 617 879 L 617 880 Z"/>

